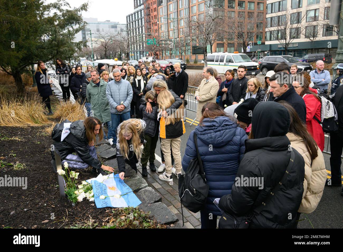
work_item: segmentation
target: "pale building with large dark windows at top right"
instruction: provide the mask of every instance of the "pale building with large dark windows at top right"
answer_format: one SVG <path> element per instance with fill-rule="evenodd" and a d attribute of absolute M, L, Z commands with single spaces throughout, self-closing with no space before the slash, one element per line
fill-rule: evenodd
<path fill-rule="evenodd" d="M 338 31 L 329 25 L 329 15 L 330 0 L 267 0 L 265 45 L 260 46 L 261 51 L 283 55 L 285 44 L 289 44 L 287 54 L 294 57 L 328 52 L 335 58 Z"/>

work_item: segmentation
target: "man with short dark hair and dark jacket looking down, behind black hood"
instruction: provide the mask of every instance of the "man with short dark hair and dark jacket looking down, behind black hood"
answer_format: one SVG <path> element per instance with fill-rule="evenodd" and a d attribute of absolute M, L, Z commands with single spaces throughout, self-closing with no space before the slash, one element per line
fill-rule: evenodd
<path fill-rule="evenodd" d="M 269 78 L 269 81 L 270 93 L 275 97 L 274 101 L 287 101 L 297 111 L 301 121 L 306 123 L 305 101 L 295 92 L 291 75 L 285 72 L 277 72 Z"/>

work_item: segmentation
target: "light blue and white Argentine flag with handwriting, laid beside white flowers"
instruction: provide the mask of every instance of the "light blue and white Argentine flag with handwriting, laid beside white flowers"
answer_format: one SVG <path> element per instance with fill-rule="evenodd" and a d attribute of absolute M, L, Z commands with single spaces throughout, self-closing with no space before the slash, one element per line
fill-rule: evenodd
<path fill-rule="evenodd" d="M 93 186 L 94 201 L 97 208 L 102 207 L 136 207 L 142 202 L 132 192 L 132 189 L 119 178 L 119 175 L 111 173 L 86 180 Z M 127 194 L 126 194 L 127 193 Z M 125 194 L 125 195 L 123 195 Z M 104 195 L 105 199 L 100 199 Z"/>

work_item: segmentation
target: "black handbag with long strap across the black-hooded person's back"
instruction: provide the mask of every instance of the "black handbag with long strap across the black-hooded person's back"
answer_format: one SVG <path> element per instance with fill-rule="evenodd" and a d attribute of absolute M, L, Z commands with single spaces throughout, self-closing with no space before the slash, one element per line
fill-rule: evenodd
<path fill-rule="evenodd" d="M 294 163 L 294 151 L 291 151 L 291 159 L 289 160 L 288 166 L 286 168 L 285 174 L 283 175 L 282 179 L 280 180 L 277 185 L 273 189 L 270 190 L 268 193 L 268 196 L 263 200 L 263 202 L 258 203 L 258 206 L 253 210 L 253 212 L 248 212 L 245 215 L 236 215 L 236 214 L 228 214 L 223 213 L 222 217 L 219 220 L 218 228 L 249 228 L 249 224 L 254 216 L 257 216 L 262 211 L 263 207 L 266 203 L 269 202 L 271 197 L 274 196 L 274 193 L 276 193 L 281 185 L 286 182 L 288 170 L 292 168 Z"/>

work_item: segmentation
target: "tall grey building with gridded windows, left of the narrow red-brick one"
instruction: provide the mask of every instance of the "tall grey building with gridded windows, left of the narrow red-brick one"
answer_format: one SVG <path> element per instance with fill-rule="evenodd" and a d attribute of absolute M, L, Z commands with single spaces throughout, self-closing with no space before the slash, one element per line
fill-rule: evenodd
<path fill-rule="evenodd" d="M 126 29 L 130 44 L 130 60 L 139 60 L 147 56 L 144 1 L 134 0 L 133 5 L 134 12 L 126 16 Z"/>

